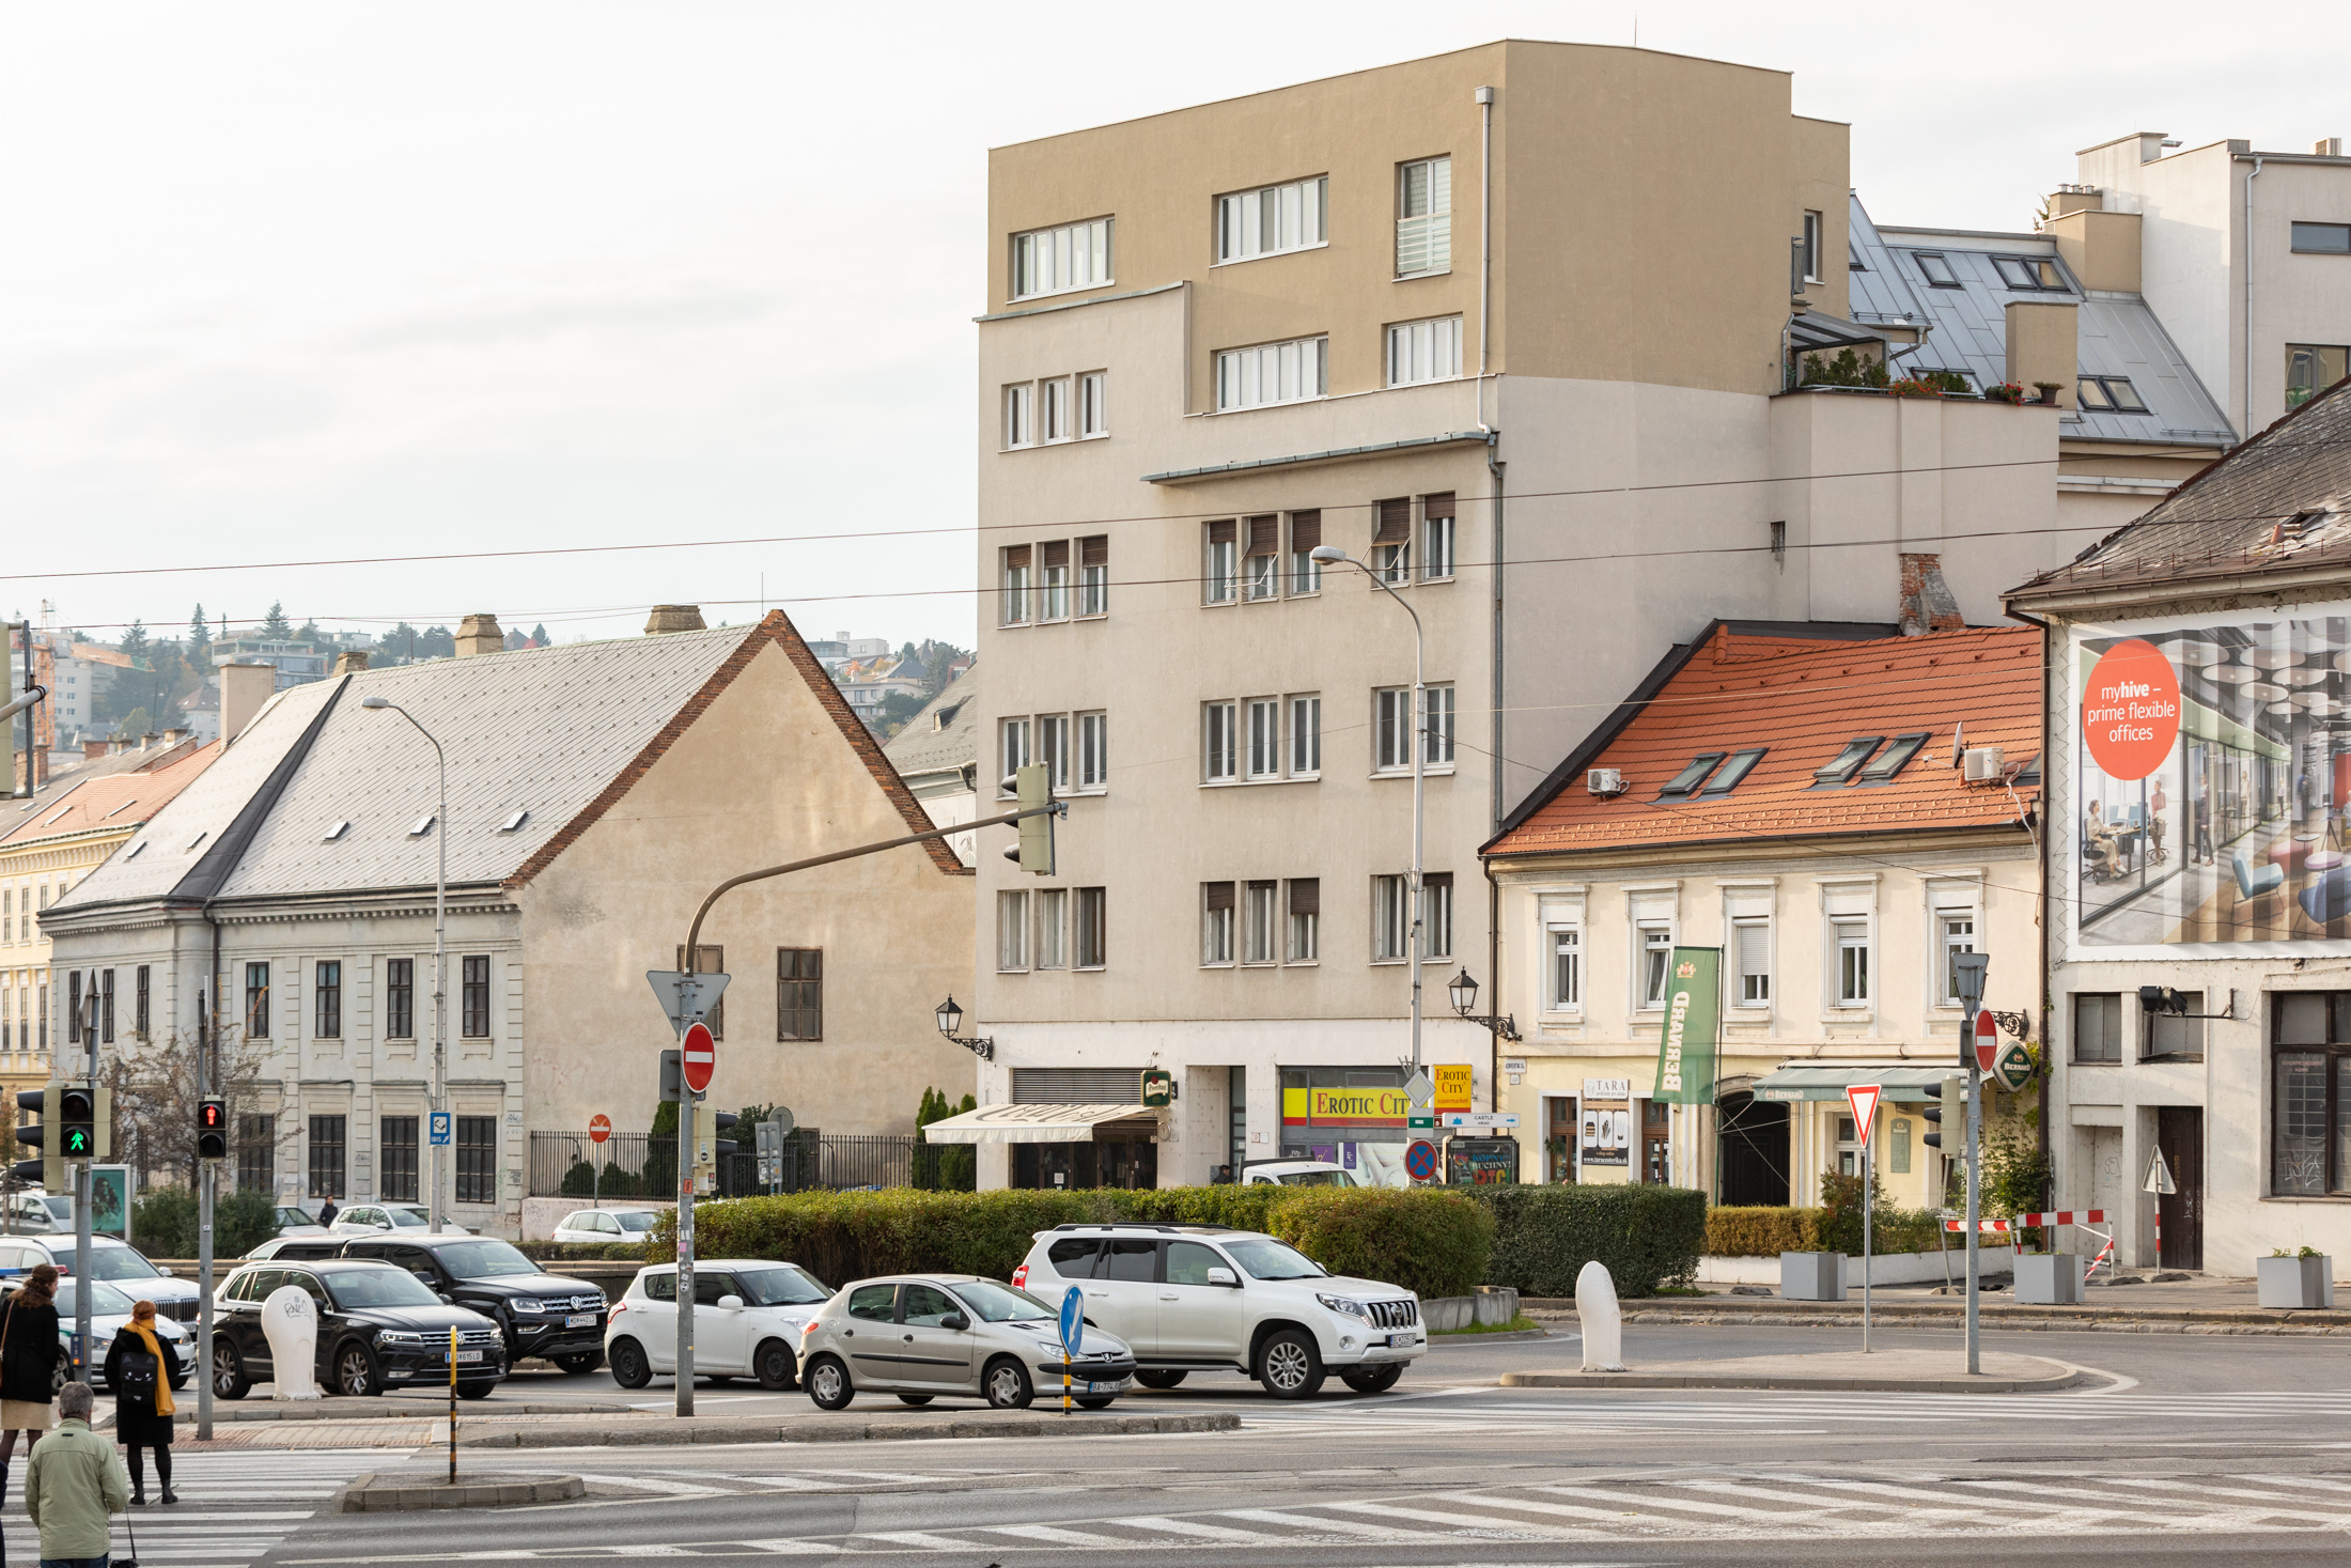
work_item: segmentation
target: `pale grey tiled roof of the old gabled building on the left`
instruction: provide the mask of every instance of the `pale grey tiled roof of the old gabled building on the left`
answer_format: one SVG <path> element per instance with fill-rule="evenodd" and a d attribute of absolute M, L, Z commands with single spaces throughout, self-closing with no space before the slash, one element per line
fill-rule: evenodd
<path fill-rule="evenodd" d="M 59 912 L 433 886 L 435 835 L 409 837 L 435 811 L 433 748 L 397 712 L 362 710 L 367 696 L 414 712 L 447 748 L 449 882 L 496 884 L 585 809 L 752 630 L 442 658 L 280 691 Z M 282 764 L 292 773 L 268 799 Z M 515 811 L 529 811 L 524 825 L 498 832 Z M 350 830 L 327 842 L 339 820 Z"/>

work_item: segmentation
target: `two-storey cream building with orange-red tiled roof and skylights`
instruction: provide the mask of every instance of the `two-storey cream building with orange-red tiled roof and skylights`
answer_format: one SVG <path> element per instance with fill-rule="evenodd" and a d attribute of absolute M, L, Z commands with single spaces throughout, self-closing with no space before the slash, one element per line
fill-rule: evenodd
<path fill-rule="evenodd" d="M 1846 1088 L 1878 1084 L 1881 1192 L 1944 1201 L 1923 1112 L 1961 1070 L 1951 954 L 1991 954 L 2012 1027 L 2041 994 L 2041 637 L 1954 623 L 1709 625 L 1512 811 L 1486 870 L 1521 1180 L 1815 1204 L 1857 1168 Z M 1980 776 L 1961 748 L 1991 752 Z M 1721 1027 L 1669 1093 L 1690 947 L 1716 952 Z"/>

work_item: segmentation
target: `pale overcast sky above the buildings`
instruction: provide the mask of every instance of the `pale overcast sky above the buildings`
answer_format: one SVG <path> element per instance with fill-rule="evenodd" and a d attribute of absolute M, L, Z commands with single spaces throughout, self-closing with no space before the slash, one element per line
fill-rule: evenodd
<path fill-rule="evenodd" d="M 2344 5 L 12 5 L 0 614 L 971 646 L 990 146 L 1636 28 L 1794 71 L 1886 223 L 2351 136 Z"/>

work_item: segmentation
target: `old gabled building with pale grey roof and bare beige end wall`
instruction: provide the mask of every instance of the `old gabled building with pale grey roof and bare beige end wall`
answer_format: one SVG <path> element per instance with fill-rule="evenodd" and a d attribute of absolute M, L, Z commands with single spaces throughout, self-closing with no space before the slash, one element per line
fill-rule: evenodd
<path fill-rule="evenodd" d="M 468 628 L 456 658 L 277 691 L 45 929 L 63 985 L 143 969 L 155 1039 L 209 1013 L 259 1058 L 240 1185 L 416 1199 L 440 1079 L 451 1213 L 515 1234 L 531 1131 L 649 1131 L 670 1027 L 644 973 L 684 964 L 719 882 L 931 823 L 781 611 L 703 630 L 661 607 L 658 635 L 517 654 Z M 734 976 L 712 1095 L 910 1133 L 924 1088 L 971 1084 L 933 1025 L 969 947 L 969 872 L 936 842 L 726 893 L 694 952 Z"/>

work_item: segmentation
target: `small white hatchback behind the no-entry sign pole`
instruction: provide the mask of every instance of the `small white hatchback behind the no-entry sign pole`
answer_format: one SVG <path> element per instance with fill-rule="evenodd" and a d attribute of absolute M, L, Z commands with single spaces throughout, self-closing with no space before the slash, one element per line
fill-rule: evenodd
<path fill-rule="evenodd" d="M 762 1389 L 799 1380 L 799 1333 L 832 1300 L 797 1262 L 712 1258 L 694 1262 L 694 1375 L 757 1378 Z M 604 1324 L 604 1361 L 623 1389 L 677 1375 L 677 1265 L 637 1269 Z"/>

